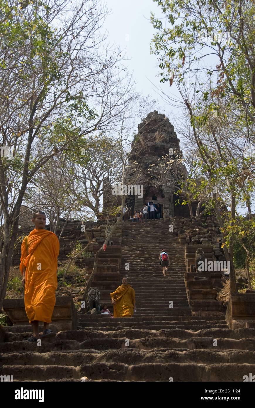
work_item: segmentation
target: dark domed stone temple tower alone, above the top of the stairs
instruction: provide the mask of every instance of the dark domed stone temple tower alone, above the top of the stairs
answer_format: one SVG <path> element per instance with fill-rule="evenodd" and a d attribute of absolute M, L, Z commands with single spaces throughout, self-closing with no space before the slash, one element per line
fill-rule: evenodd
<path fill-rule="evenodd" d="M 130 159 L 141 164 L 144 174 L 143 198 L 134 198 L 134 209 L 140 209 L 144 202 L 154 201 L 163 208 L 163 217 L 175 215 L 173 191 L 170 186 L 153 186 L 148 169 L 150 164 L 156 164 L 162 156 L 169 155 L 169 149 L 180 152 L 180 140 L 177 138 L 174 126 L 165 115 L 158 111 L 150 112 L 138 125 L 138 133 L 132 142 Z"/>

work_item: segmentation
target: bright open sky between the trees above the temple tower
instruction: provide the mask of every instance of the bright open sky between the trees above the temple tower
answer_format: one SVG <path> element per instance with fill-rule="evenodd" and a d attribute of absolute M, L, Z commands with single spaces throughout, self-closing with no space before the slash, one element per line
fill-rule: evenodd
<path fill-rule="evenodd" d="M 107 16 L 103 28 L 108 30 L 108 40 L 120 45 L 121 49 L 126 49 L 127 66 L 130 72 L 133 72 L 136 80 L 136 90 L 143 96 L 151 94 L 153 98 L 158 99 L 162 106 L 160 113 L 164 113 L 174 124 L 174 115 L 171 106 L 167 106 L 163 99 L 156 92 L 156 86 L 160 86 L 165 91 L 169 91 L 169 82 L 159 84 L 160 78 L 157 74 L 157 57 L 150 54 L 150 42 L 156 30 L 150 22 L 150 11 L 155 13 L 158 18 L 163 18 L 161 8 L 152 0 L 107 0 L 108 10 L 112 10 Z M 163 24 L 165 24 L 165 18 Z M 174 86 L 171 92 L 176 92 Z M 149 112 L 148 112 L 149 113 Z M 178 115 L 178 112 L 175 112 Z"/>

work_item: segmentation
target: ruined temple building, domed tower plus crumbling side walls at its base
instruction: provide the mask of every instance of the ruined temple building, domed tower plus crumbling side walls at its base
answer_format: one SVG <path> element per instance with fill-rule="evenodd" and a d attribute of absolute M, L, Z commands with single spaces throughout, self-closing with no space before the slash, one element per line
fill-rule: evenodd
<path fill-rule="evenodd" d="M 180 140 L 177 138 L 174 126 L 165 115 L 158 113 L 158 111 L 150 112 L 138 124 L 138 132 L 131 144 L 129 160 L 136 160 L 141 166 L 143 197 L 127 196 L 125 204 L 131 208 L 129 215 L 132 215 L 134 210 L 139 211 L 140 208 L 143 208 L 145 202 L 153 201 L 154 204 L 161 204 L 163 218 L 174 217 L 174 215 L 189 216 L 188 206 L 181 205 L 182 200 L 174 195 L 173 187 L 167 184 L 153 183 L 153 178 L 149 173 L 150 164 L 156 164 L 158 159 L 169 155 L 170 149 L 171 152 L 174 152 L 173 157 L 182 154 Z M 112 205 L 119 206 L 120 204 L 121 197 L 112 195 L 110 182 L 105 180 L 103 211 L 107 212 Z M 125 215 L 126 220 L 129 219 L 129 215 Z"/>

